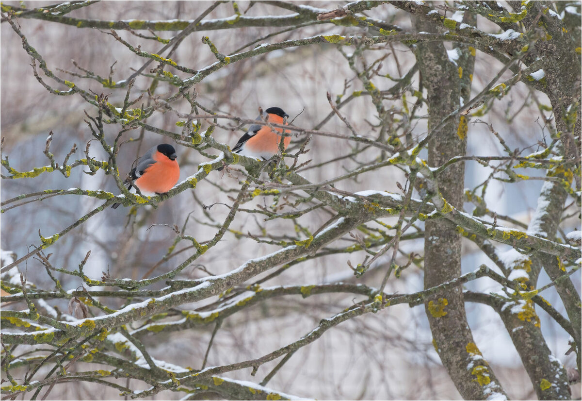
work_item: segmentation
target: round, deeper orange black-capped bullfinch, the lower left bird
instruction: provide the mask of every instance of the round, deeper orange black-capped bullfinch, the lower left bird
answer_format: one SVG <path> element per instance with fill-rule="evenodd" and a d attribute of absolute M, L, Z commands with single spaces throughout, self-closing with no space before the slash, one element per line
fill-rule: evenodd
<path fill-rule="evenodd" d="M 137 166 L 129 174 L 133 182 L 123 181 L 139 188 L 144 196 L 154 196 L 168 192 L 180 178 L 180 167 L 176 161 L 176 150 L 172 145 L 161 143 L 152 147 L 137 160 Z M 114 203 L 113 209 L 117 209 L 121 203 Z"/>

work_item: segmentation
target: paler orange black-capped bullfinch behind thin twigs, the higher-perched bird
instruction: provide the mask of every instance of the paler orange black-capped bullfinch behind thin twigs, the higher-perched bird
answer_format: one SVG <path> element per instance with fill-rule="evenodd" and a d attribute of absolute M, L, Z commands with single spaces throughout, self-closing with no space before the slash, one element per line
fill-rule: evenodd
<path fill-rule="evenodd" d="M 281 107 L 269 107 L 263 112 L 263 117 L 268 117 L 268 122 L 274 124 L 283 124 L 285 117 L 289 117 Z M 261 116 L 257 117 L 261 121 Z M 285 122 L 287 125 L 287 122 Z M 277 132 L 283 132 L 282 128 L 274 128 Z M 279 143 L 281 142 L 281 135 L 275 133 L 268 125 L 253 124 L 236 143 L 232 151 L 243 156 L 254 157 L 255 159 L 267 160 L 279 152 Z M 291 142 L 291 137 L 283 138 L 283 148 L 287 149 Z M 222 170 L 221 168 L 217 169 Z"/>

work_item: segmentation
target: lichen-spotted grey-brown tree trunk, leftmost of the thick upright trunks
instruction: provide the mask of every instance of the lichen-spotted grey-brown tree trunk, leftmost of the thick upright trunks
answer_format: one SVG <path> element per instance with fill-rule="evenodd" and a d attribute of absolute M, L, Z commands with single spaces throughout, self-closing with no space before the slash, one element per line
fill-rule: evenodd
<path fill-rule="evenodd" d="M 418 31 L 432 27 L 414 21 Z M 461 96 L 459 68 L 449 61 L 442 43 L 418 44 L 416 58 L 427 89 L 428 126 L 437 126 L 444 115 L 459 107 Z M 465 71 L 469 76 L 472 71 Z M 467 89 L 463 93 L 468 93 Z M 462 117 L 464 118 L 464 117 Z M 464 121 L 466 124 L 466 121 Z M 453 119 L 428 143 L 428 163 L 441 166 L 466 152 L 466 129 L 460 119 Z M 456 163 L 443 171 L 438 184 L 443 197 L 462 208 L 464 164 Z M 424 242 L 425 289 L 455 279 L 461 274 L 461 240 L 456 226 L 449 221 L 427 221 Z M 467 323 L 463 293 L 460 288 L 438 293 L 425 302 L 435 349 L 457 390 L 465 399 L 487 399 L 492 393 L 503 393 L 491 368 L 475 345 Z"/>

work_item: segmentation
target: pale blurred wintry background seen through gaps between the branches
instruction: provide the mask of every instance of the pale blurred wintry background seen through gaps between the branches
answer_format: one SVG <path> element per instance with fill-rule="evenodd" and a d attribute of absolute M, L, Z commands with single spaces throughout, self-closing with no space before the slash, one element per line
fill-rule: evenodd
<path fill-rule="evenodd" d="M 16 2 L 6 4 L 18 5 Z M 42 2 L 30 3 L 40 6 Z M 27 2 L 27 4 L 29 4 Z M 171 20 L 196 19 L 212 2 L 101 2 L 83 9 L 75 10 L 71 16 L 102 19 L 102 20 Z M 237 2 L 241 12 L 249 16 L 285 15 L 289 10 L 249 1 Z M 310 6 L 322 9 L 335 9 L 338 2 L 315 1 Z M 233 15 L 232 4 L 225 3 L 213 10 L 205 19 L 218 19 Z M 382 5 L 368 12 L 368 15 L 386 22 L 398 24 L 404 29 L 411 26 L 410 19 L 401 11 L 390 5 Z M 125 90 L 107 89 L 97 82 L 80 79 L 69 75 L 66 71 L 80 73 L 72 61 L 79 66 L 107 77 L 112 71 L 112 79 L 126 79 L 134 70 L 143 65 L 144 59 L 130 52 L 118 43 L 115 38 L 98 29 L 77 29 L 58 23 L 48 23 L 39 20 L 19 19 L 22 32 L 29 43 L 44 57 L 48 68 L 64 79 L 78 82 L 84 89 L 91 89 L 96 94 L 109 94 L 109 101 L 118 105 L 123 103 Z M 478 26 L 487 31 L 494 29 L 487 22 L 478 21 Z M 209 36 L 218 51 L 222 54 L 233 54 L 245 45 L 254 41 L 257 43 L 276 43 L 277 41 L 304 38 L 317 34 L 360 33 L 357 27 L 340 27 L 331 24 L 303 27 L 286 31 L 275 36 L 262 37 L 283 28 L 244 27 L 236 29 L 199 31 L 188 36 L 173 55 L 172 59 L 179 65 L 191 69 L 202 69 L 215 62 L 215 57 L 203 44 L 201 37 Z M 34 78 L 30 67 L 30 57 L 22 48 L 20 38 L 7 23 L 0 26 L 0 128 L 4 140 L 2 157 L 8 157 L 10 165 L 19 171 L 32 170 L 49 164 L 42 153 L 49 131 L 54 133 L 51 152 L 57 161 L 62 161 L 70 151 L 73 143 L 80 150 L 73 158 L 83 157 L 84 149 L 91 133 L 84 119 L 84 111 L 95 115 L 90 105 L 79 96 L 54 96 Z M 145 51 L 156 53 L 163 47 L 162 43 L 134 36 L 128 31 L 118 31 L 119 35 L 132 43 L 134 47 L 141 46 Z M 147 31 L 140 33 L 148 34 Z M 178 32 L 158 31 L 162 38 L 171 38 Z M 491 31 L 491 33 L 498 33 Z M 450 48 L 450 43 L 446 44 Z M 253 48 L 254 44 L 244 47 Z M 346 52 L 350 48 L 345 48 Z M 381 72 L 392 77 L 403 76 L 414 65 L 414 56 L 402 44 L 386 46 L 388 57 L 382 62 Z M 368 55 L 370 60 L 378 58 L 378 54 Z M 113 65 L 113 67 L 111 67 Z M 155 66 L 152 64 L 152 67 Z M 477 52 L 473 80 L 473 94 L 477 94 L 487 85 L 502 65 L 494 59 Z M 173 71 L 174 72 L 174 71 Z M 174 72 L 176 73 L 176 72 Z M 189 75 L 178 73 L 182 79 Z M 502 77 L 510 77 L 506 73 Z M 413 78 L 412 86 L 417 85 L 418 75 Z M 151 78 L 140 77 L 134 85 L 132 97 L 145 93 L 151 85 Z M 377 78 L 375 85 L 381 89 L 389 89 L 395 82 L 389 78 Z M 347 89 L 346 89 L 347 88 Z M 272 106 L 283 108 L 293 120 L 293 124 L 306 129 L 313 129 L 331 112 L 326 93 L 332 99 L 344 93 L 362 90 L 346 59 L 340 55 L 335 45 L 311 45 L 286 50 L 269 52 L 251 59 L 236 62 L 213 73 L 195 87 L 197 100 L 205 107 L 219 113 L 236 115 L 242 118 L 255 118 L 258 108 Z M 164 82 L 159 83 L 156 94 L 173 94 L 175 88 Z M 347 95 L 346 95 L 347 96 Z M 542 104 L 548 104 L 543 94 L 537 93 Z M 416 100 L 416 98 L 414 99 Z M 413 102 L 414 100 L 408 100 Z M 406 100 L 404 100 L 406 101 Z M 147 103 L 147 94 L 141 103 Z M 402 99 L 395 99 L 386 107 L 402 108 Z M 180 112 L 189 112 L 187 103 L 173 104 Z M 341 112 L 360 134 L 368 137 L 378 135 L 378 119 L 374 106 L 368 97 L 354 99 L 341 109 Z M 422 113 L 421 113 L 422 114 Z M 502 100 L 495 103 L 489 114 L 473 118 L 469 124 L 469 142 L 467 154 L 490 156 L 502 154 L 499 141 L 478 119 L 492 124 L 496 131 L 508 143 L 509 147 L 524 149 L 526 154 L 541 149 L 538 142 L 548 137 L 540 111 L 534 103 L 532 94 L 526 86 L 518 84 Z M 176 122 L 179 118 L 172 112 L 156 112 L 148 124 L 158 126 L 168 131 L 180 132 Z M 226 121 L 221 124 L 234 128 L 236 125 Z M 413 133 L 423 135 L 427 131 L 426 122 L 421 119 L 414 122 Z M 208 124 L 203 122 L 203 128 Z M 108 140 L 113 142 L 119 131 L 119 126 L 106 126 Z M 349 134 L 349 129 L 337 117 L 332 117 L 321 126 L 323 131 Z M 217 128 L 214 138 L 231 147 L 235 145 L 243 131 Z M 118 156 L 120 173 L 130 170 L 133 160 L 143 154 L 149 147 L 157 143 L 171 143 L 168 138 L 157 136 L 151 132 L 130 131 L 123 134 L 123 139 L 139 139 L 141 141 L 126 143 Z M 305 138 L 296 136 L 292 146 L 298 149 Z M 176 146 L 176 145 L 175 145 Z M 313 159 L 301 171 L 311 182 L 321 182 L 351 171 L 360 163 L 369 162 L 377 154 L 373 149 L 364 150 L 354 157 L 349 155 L 361 147 L 347 143 L 345 140 L 314 136 L 308 145 L 310 152 L 301 156 L 300 161 Z M 178 146 L 178 161 L 180 164 L 180 181 L 196 173 L 198 164 L 209 161 L 202 154 L 187 147 Z M 217 154 L 218 152 L 214 152 Z M 94 142 L 90 150 L 91 156 L 98 160 L 107 160 L 105 152 Z M 422 156 L 422 155 L 421 155 Z M 333 161 L 338 159 L 336 161 Z M 315 164 L 332 160 L 325 166 L 310 168 Z M 69 178 L 59 173 L 45 173 L 32 179 L 2 180 L 1 199 L 13 198 L 30 192 L 44 189 L 66 189 L 78 187 L 83 189 L 105 189 L 117 194 L 112 177 L 100 171 L 96 175 L 83 174 L 81 168 L 74 168 Z M 6 170 L 3 171 L 6 174 Z M 491 170 L 474 162 L 467 162 L 464 182 L 467 188 L 481 184 Z M 523 174 L 541 175 L 540 171 L 527 171 Z M 210 240 L 218 230 L 218 224 L 225 219 L 232 204 L 229 196 L 235 196 L 240 188 L 240 175 L 219 173 L 213 171 L 207 178 L 198 182 L 194 190 L 184 191 L 172 199 L 162 202 L 157 209 L 142 207 L 136 215 L 128 214 L 129 207 L 119 207 L 98 213 L 86 224 L 59 240 L 58 245 L 49 249 L 54 252 L 51 262 L 55 267 L 73 270 L 91 250 L 85 272 L 95 279 L 104 273 L 115 278 L 129 277 L 141 279 L 144 275 L 154 276 L 166 272 L 190 255 L 189 250 L 178 254 L 164 263 L 158 263 L 172 245 L 176 234 L 171 229 L 176 225 L 184 234 L 193 235 L 198 242 Z M 459 178 L 462 179 L 462 178 Z M 401 193 L 396 182 L 404 185 L 406 178 L 397 168 L 387 167 L 379 171 L 361 174 L 354 180 L 343 180 L 335 184 L 336 188 L 356 192 L 365 189 Z M 530 180 L 514 184 L 499 181 L 489 183 L 487 195 L 488 207 L 499 214 L 512 216 L 527 224 L 537 205 L 537 196 L 543 181 Z M 15 209 L 6 210 L 1 217 L 1 247 L 5 251 L 15 252 L 22 256 L 28 252 L 27 247 L 39 244 L 38 233 L 48 237 L 58 233 L 80 216 L 94 209 L 103 201 L 84 196 L 56 196 L 42 202 L 32 202 Z M 210 206 L 204 209 L 203 205 Z M 256 209 L 267 206 L 271 198 L 257 196 L 252 202 L 243 205 L 245 209 Z M 571 202 L 569 199 L 568 202 Z M 473 205 L 467 203 L 466 210 L 471 212 Z M 310 213 L 300 221 L 308 227 L 311 233 L 317 231 L 329 219 L 326 213 Z M 387 223 L 395 220 L 385 219 Z M 152 226 L 152 224 L 158 224 Z M 421 226 L 421 225 L 420 225 Z M 572 216 L 562 224 L 562 230 L 568 233 L 580 229 L 579 217 Z M 294 233 L 294 225 L 289 220 L 264 221 L 264 216 L 257 213 L 239 212 L 230 226 L 232 230 L 243 234 L 261 235 L 262 229 L 273 235 Z M 349 245 L 352 239 L 347 238 L 333 244 L 335 247 Z M 186 248 L 182 242 L 176 250 Z M 240 237 L 236 233 L 227 233 L 223 240 L 206 254 L 197 259 L 196 263 L 183 270 L 180 277 L 195 278 L 207 275 L 201 267 L 213 274 L 221 274 L 235 269 L 250 258 L 267 255 L 278 245 L 257 243 L 249 238 Z M 508 251 L 510 247 L 499 245 L 499 252 Z M 410 240 L 401 243 L 401 250 L 406 253 L 423 254 L 423 240 Z M 494 264 L 484 258 L 480 251 L 470 242 L 464 243 L 463 272 L 477 269 L 482 263 L 494 268 Z M 388 252 L 390 254 L 391 252 Z M 388 255 L 387 254 L 387 255 Z M 389 256 L 379 259 L 374 269 L 360 279 L 353 276 L 347 261 L 359 263 L 364 254 L 336 254 L 325 258 L 313 259 L 307 263 L 293 266 L 292 269 L 269 280 L 269 285 L 281 284 L 318 284 L 326 282 L 363 282 L 371 286 L 379 286 L 389 262 Z M 405 259 L 403 259 L 405 260 Z M 19 266 L 27 280 L 36 286 L 50 289 L 54 284 L 47 276 L 40 262 L 28 259 Z M 580 275 L 574 275 L 574 282 L 580 290 Z M 57 275 L 65 289 L 76 289 L 81 285 L 80 279 L 66 275 Z M 548 277 L 542 272 L 539 285 L 548 282 Z M 160 283 L 154 288 L 163 286 Z M 265 286 L 265 284 L 264 284 Z M 498 291 L 499 286 L 488 279 L 480 279 L 466 286 L 472 290 L 485 293 Z M 423 289 L 423 272 L 416 266 L 404 270 L 399 279 L 391 279 L 386 291 L 410 293 Z M 552 289 L 544 292 L 544 297 L 559 311 L 563 307 L 559 297 Z M 322 318 L 337 313 L 340 309 L 349 307 L 356 302 L 341 294 L 320 295 L 306 300 L 274 299 L 247 311 L 237 313 L 226 319 L 215 338 L 214 347 L 210 351 L 209 365 L 221 365 L 236 361 L 258 358 L 265 353 L 278 349 L 317 326 Z M 66 304 L 54 301 L 51 306 L 66 309 Z M 120 307 L 119 305 L 110 305 Z M 201 305 L 182 305 L 183 308 L 197 308 Z M 508 333 L 503 328 L 501 320 L 488 307 L 481 304 L 467 303 L 467 314 L 475 342 L 488 359 L 498 375 L 502 385 L 512 399 L 531 399 L 535 392 L 526 373 L 521 366 L 519 356 L 514 351 Z M 407 305 L 397 305 L 378 314 L 361 316 L 342 323 L 337 328 L 329 330 L 320 340 L 304 347 L 289 360 L 286 367 L 278 372 L 268 386 L 297 396 L 316 399 L 459 399 L 459 393 L 443 370 L 435 353 L 431 340 L 428 322 L 423 307 L 409 308 Z M 575 356 L 565 356 L 569 348 L 568 336 L 543 311 L 538 311 L 541 318 L 542 331 L 545 333 L 548 346 L 556 357 L 566 367 L 575 365 Z M 156 336 L 148 342 L 143 341 L 152 356 L 168 363 L 183 367 L 199 367 L 210 339 L 212 326 L 171 335 Z M 276 362 L 263 365 L 257 374 L 262 379 Z M 227 374 L 228 377 L 257 381 L 250 376 L 250 370 Z M 90 399 L 95 398 L 95 388 L 90 384 L 75 384 L 61 386 L 59 392 L 51 393 L 56 399 Z M 102 391 L 100 389 L 100 391 Z M 580 386 L 573 386 L 573 396 L 580 398 Z M 175 394 L 162 392 L 155 399 L 175 397 Z M 117 398 L 116 392 L 103 390 L 98 398 Z"/>

